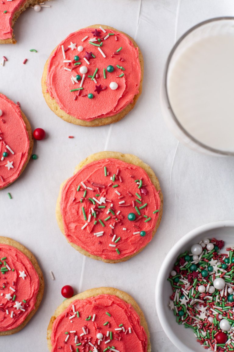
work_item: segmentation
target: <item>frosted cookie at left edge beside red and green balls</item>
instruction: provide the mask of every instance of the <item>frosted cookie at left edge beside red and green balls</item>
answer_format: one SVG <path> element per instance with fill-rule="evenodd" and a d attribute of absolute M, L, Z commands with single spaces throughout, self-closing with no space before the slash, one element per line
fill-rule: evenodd
<path fill-rule="evenodd" d="M 33 150 L 31 126 L 20 107 L 0 94 L 0 189 L 24 171 Z"/>

